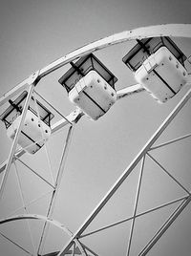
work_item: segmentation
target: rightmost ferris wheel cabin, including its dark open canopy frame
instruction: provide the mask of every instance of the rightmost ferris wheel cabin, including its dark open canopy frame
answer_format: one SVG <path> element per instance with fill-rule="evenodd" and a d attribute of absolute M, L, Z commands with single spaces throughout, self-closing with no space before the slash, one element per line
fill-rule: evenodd
<path fill-rule="evenodd" d="M 151 96 L 166 102 L 187 82 L 186 56 L 168 36 L 137 41 L 122 60 Z"/>

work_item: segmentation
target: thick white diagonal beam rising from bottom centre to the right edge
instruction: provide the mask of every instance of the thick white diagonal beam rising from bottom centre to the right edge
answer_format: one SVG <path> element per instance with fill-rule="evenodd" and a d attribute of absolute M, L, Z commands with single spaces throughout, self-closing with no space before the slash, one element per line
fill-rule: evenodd
<path fill-rule="evenodd" d="M 75 238 L 78 238 L 84 232 L 84 230 L 87 228 L 87 226 L 92 223 L 92 221 L 96 218 L 96 215 L 99 213 L 99 211 L 110 200 L 110 198 L 115 194 L 118 187 L 122 184 L 123 181 L 126 180 L 126 178 L 130 175 L 130 173 L 137 166 L 139 160 L 141 160 L 142 157 L 147 153 L 147 151 L 151 148 L 151 146 L 154 144 L 154 142 L 159 138 L 159 136 L 166 129 L 166 127 L 170 124 L 170 122 L 174 119 L 174 117 L 177 116 L 177 114 L 180 112 L 180 109 L 185 105 L 185 103 L 188 101 L 188 99 L 190 97 L 191 97 L 191 89 L 186 93 L 185 96 L 182 97 L 179 104 L 175 107 L 175 109 L 170 113 L 170 115 L 159 126 L 159 129 L 154 134 L 154 136 L 145 144 L 145 146 L 142 148 L 142 150 L 138 153 L 137 158 L 135 160 L 133 160 L 132 163 L 125 169 L 125 171 L 122 173 L 122 175 L 116 181 L 116 183 L 112 186 L 112 188 L 108 191 L 108 193 L 105 195 L 105 197 L 100 201 L 100 203 L 97 204 L 96 208 L 90 214 L 90 216 L 87 218 L 87 220 L 74 233 L 73 239 L 71 239 L 69 241 L 69 243 L 61 249 L 58 256 L 63 256 L 64 253 L 71 247 L 73 240 Z"/>

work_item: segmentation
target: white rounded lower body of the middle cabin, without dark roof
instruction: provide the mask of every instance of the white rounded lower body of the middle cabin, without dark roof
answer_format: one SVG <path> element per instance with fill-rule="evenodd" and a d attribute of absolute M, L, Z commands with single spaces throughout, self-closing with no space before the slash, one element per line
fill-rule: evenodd
<path fill-rule="evenodd" d="M 117 93 L 96 71 L 83 76 L 69 92 L 70 100 L 88 117 L 102 117 L 117 100 Z"/>

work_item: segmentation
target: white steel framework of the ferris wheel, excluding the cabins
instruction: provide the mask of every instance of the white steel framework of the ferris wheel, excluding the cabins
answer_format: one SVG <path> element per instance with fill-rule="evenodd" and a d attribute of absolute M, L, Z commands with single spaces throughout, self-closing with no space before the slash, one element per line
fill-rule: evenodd
<path fill-rule="evenodd" d="M 16 171 L 16 177 L 19 185 L 19 190 L 20 190 L 20 196 L 22 199 L 22 209 L 25 210 L 25 214 L 23 215 L 16 215 L 14 216 L 14 213 L 11 214 L 11 217 L 5 218 L 0 220 L 0 224 L 6 224 L 14 221 L 21 221 L 21 220 L 27 220 L 28 222 L 28 227 L 29 227 L 29 234 L 31 236 L 31 241 L 32 241 L 32 231 L 31 231 L 31 226 L 29 220 L 41 220 L 44 221 L 44 226 L 43 226 L 43 231 L 40 237 L 39 245 L 37 248 L 34 247 L 33 241 L 33 252 L 28 251 L 26 248 L 24 248 L 22 245 L 18 245 L 14 241 L 12 241 L 9 237 L 7 237 L 5 234 L 0 232 L 0 235 L 10 241 L 13 245 L 16 245 L 20 249 L 26 252 L 26 254 L 29 255 L 42 255 L 43 254 L 43 248 L 45 245 L 46 237 L 49 232 L 49 226 L 50 224 L 54 224 L 55 226 L 61 228 L 65 233 L 67 233 L 70 237 L 69 242 L 64 245 L 59 252 L 54 252 L 54 254 L 51 255 L 57 255 L 57 256 L 63 256 L 66 254 L 72 254 L 72 255 L 98 255 L 96 254 L 95 251 L 93 251 L 91 248 L 89 248 L 87 245 L 84 245 L 84 243 L 81 242 L 81 239 L 87 236 L 94 235 L 95 233 L 101 232 L 102 230 L 111 228 L 113 226 L 116 226 L 118 224 L 123 224 L 126 222 L 131 222 L 131 228 L 130 228 L 130 235 L 129 235 L 129 241 L 127 245 L 127 253 L 126 255 L 131 255 L 131 244 L 132 244 L 132 239 L 133 239 L 133 233 L 134 233 L 134 227 L 137 219 L 143 215 L 146 215 L 150 212 L 154 212 L 159 210 L 160 208 L 166 207 L 168 205 L 172 205 L 174 203 L 180 203 L 179 206 L 172 212 L 172 214 L 169 216 L 169 218 L 166 220 L 164 224 L 162 224 L 159 228 L 159 230 L 156 232 L 156 234 L 151 238 L 151 240 L 148 242 L 147 245 L 145 245 L 142 250 L 139 252 L 139 256 L 146 255 L 150 249 L 159 241 L 159 238 L 164 234 L 164 232 L 170 227 L 171 224 L 178 218 L 182 210 L 190 203 L 191 201 L 191 192 L 188 191 L 181 183 L 178 181 L 171 173 L 169 173 L 160 163 L 158 160 L 156 160 L 152 156 L 152 151 L 158 149 L 159 147 L 164 147 L 166 145 L 176 143 L 182 139 L 188 139 L 191 137 L 191 134 L 182 136 L 177 139 L 172 139 L 167 142 L 164 142 L 159 145 L 154 145 L 154 143 L 159 139 L 160 135 L 163 133 L 163 131 L 167 128 L 167 126 L 171 123 L 171 121 L 178 115 L 182 107 L 186 104 L 186 102 L 190 99 L 191 97 L 191 90 L 189 90 L 185 96 L 182 97 L 178 105 L 175 107 L 175 109 L 170 113 L 170 115 L 163 121 L 163 123 L 159 126 L 159 129 L 157 132 L 153 135 L 151 139 L 145 144 L 145 146 L 140 150 L 138 153 L 138 156 L 131 162 L 131 164 L 123 171 L 122 175 L 117 179 L 115 184 L 111 187 L 111 189 L 108 191 L 108 193 L 104 196 L 104 198 L 98 203 L 93 210 L 93 212 L 90 214 L 90 216 L 87 218 L 87 220 L 81 224 L 81 226 L 74 232 L 72 233 L 68 228 L 63 226 L 63 224 L 60 224 L 56 221 L 53 220 L 53 209 L 54 205 L 56 202 L 57 194 L 60 188 L 60 184 L 62 181 L 63 173 L 64 173 L 64 167 L 65 163 L 67 160 L 67 156 L 69 153 L 69 148 L 70 148 L 70 143 L 72 140 L 72 135 L 74 131 L 74 124 L 83 116 L 83 113 L 76 109 L 74 112 L 72 112 L 69 116 L 64 117 L 62 116 L 53 106 L 53 110 L 57 112 L 62 118 L 57 121 L 52 127 L 52 134 L 59 131 L 62 129 L 64 126 L 69 125 L 68 129 L 68 134 L 67 138 L 65 141 L 65 145 L 63 147 L 62 151 L 62 157 L 59 163 L 58 171 L 56 174 L 55 179 L 53 179 L 52 182 L 47 181 L 44 177 L 40 176 L 37 171 L 33 170 L 28 163 L 26 163 L 24 160 L 20 159 L 23 154 L 25 154 L 25 151 L 23 149 L 17 150 L 17 142 L 18 138 L 20 135 L 20 132 L 22 130 L 22 126 L 27 114 L 27 110 L 29 107 L 29 103 L 31 100 L 31 97 L 34 96 L 34 101 L 35 100 L 35 87 L 37 86 L 38 82 L 40 81 L 41 78 L 43 78 L 46 75 L 49 75 L 53 71 L 59 69 L 60 67 L 66 65 L 67 63 L 74 61 L 74 59 L 83 56 L 87 53 L 94 53 L 98 50 L 101 50 L 103 48 L 120 44 L 129 40 L 134 40 L 134 39 L 141 39 L 141 38 L 146 38 L 146 37 L 154 37 L 154 36 L 179 36 L 179 37 L 191 37 L 191 25 L 183 25 L 183 24 L 171 24 L 171 25 L 160 25 L 160 26 L 153 26 L 153 27 L 147 27 L 147 28 L 140 28 L 137 30 L 129 31 L 129 32 L 120 32 L 108 37 L 105 37 L 103 39 L 100 39 L 96 42 L 93 42 L 89 45 L 86 45 L 78 50 L 75 50 L 72 53 L 69 53 L 56 61 L 54 61 L 52 64 L 48 65 L 47 67 L 35 72 L 32 74 L 29 78 L 15 86 L 13 89 L 11 89 L 10 92 L 5 94 L 0 98 L 0 106 L 4 105 L 9 99 L 11 99 L 13 96 L 16 96 L 18 93 L 22 92 L 23 90 L 28 90 L 28 96 L 25 102 L 24 110 L 22 112 L 22 117 L 20 120 L 19 127 L 16 131 L 16 135 L 13 139 L 12 145 L 11 145 L 11 151 L 10 155 L 8 157 L 8 160 L 4 161 L 0 165 L 0 173 L 3 173 L 3 179 L 1 181 L 1 186 L 0 186 L 0 201 L 2 200 L 2 197 L 4 195 L 5 191 L 5 186 L 6 182 L 8 180 L 8 176 L 11 170 L 11 165 L 13 164 L 15 167 Z M 191 79 L 189 80 L 188 84 L 191 84 Z M 137 93 L 143 92 L 144 89 L 139 85 L 133 85 L 130 87 L 127 87 L 123 90 L 120 90 L 117 92 L 117 99 L 126 97 L 126 96 L 131 96 L 135 95 Z M 38 95 L 39 96 L 39 95 Z M 44 98 L 43 98 L 44 99 Z M 46 99 L 44 99 L 46 100 Z M 47 102 L 49 103 L 49 102 Z M 36 106 L 36 113 L 38 114 L 38 118 L 40 121 L 39 113 L 38 113 L 38 107 L 37 104 Z M 47 151 L 46 151 L 47 152 Z M 47 152 L 48 153 L 48 152 Z M 177 183 L 178 186 L 180 186 L 181 189 L 184 190 L 185 195 L 177 200 L 168 202 L 168 203 L 163 203 L 155 208 L 151 208 L 147 211 L 138 213 L 138 200 L 139 200 L 139 193 L 140 193 L 140 187 L 141 187 L 141 181 L 142 181 L 142 175 L 144 172 L 144 166 L 145 166 L 145 160 L 146 158 L 150 158 L 151 160 L 155 161 L 156 164 L 159 165 L 160 169 L 164 171 L 173 181 Z M 47 154 L 47 160 L 49 160 L 49 155 Z M 25 197 L 23 195 L 23 190 L 22 190 L 22 185 L 20 182 L 20 177 L 19 177 L 19 172 L 17 169 L 17 162 L 20 162 L 23 164 L 26 168 L 29 169 L 33 173 L 33 175 L 36 175 L 39 179 L 42 181 L 46 182 L 50 188 L 52 189 L 51 192 L 51 200 L 49 203 L 48 207 L 48 212 L 47 216 L 40 216 L 40 215 L 32 215 L 27 211 L 27 207 L 33 203 L 27 203 L 25 202 Z M 137 196 L 135 200 L 135 206 L 134 206 L 134 212 L 133 216 L 128 217 L 126 219 L 120 220 L 116 223 L 109 224 L 106 226 L 103 226 L 99 229 L 96 229 L 92 232 L 85 233 L 87 227 L 93 222 L 93 220 L 96 218 L 97 214 L 101 211 L 101 209 L 108 203 L 108 201 L 113 197 L 113 195 L 116 193 L 117 189 L 120 187 L 120 185 L 125 181 L 128 176 L 130 175 L 131 172 L 134 171 L 138 163 L 141 161 L 141 167 L 140 167 L 140 173 L 139 173 L 139 178 L 138 178 L 138 188 L 137 188 Z M 51 169 L 51 166 L 50 166 Z M 44 196 L 44 195 L 43 195 Z M 35 201 L 38 201 L 40 198 L 37 198 Z M 18 209 L 16 209 L 18 210 Z M 16 212 L 16 211 L 15 211 Z M 48 256 L 48 254 L 47 254 Z"/>

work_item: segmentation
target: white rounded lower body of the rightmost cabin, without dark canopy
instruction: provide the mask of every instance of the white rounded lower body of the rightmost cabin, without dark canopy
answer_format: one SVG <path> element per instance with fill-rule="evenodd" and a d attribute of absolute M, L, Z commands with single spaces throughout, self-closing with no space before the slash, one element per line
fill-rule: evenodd
<path fill-rule="evenodd" d="M 166 47 L 151 54 L 135 73 L 135 78 L 159 103 L 175 96 L 187 82 L 187 71 Z"/>

